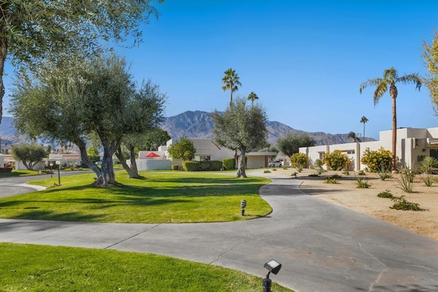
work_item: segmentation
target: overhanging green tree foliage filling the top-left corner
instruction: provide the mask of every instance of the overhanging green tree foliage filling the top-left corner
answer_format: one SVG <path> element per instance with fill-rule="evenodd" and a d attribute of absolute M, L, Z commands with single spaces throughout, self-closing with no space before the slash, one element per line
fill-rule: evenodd
<path fill-rule="evenodd" d="M 158 0 L 163 2 L 164 0 Z M 142 40 L 140 23 L 158 16 L 151 0 L 0 2 L 0 121 L 5 61 L 34 68 L 66 55 L 89 57 L 106 41 Z"/>

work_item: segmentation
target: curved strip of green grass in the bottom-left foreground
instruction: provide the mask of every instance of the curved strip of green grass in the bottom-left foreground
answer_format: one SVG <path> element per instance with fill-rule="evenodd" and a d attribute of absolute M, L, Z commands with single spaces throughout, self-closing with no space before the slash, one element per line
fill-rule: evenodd
<path fill-rule="evenodd" d="M 12 243 L 0 254 L 0 291 L 261 291 L 242 271 L 153 254 Z"/>

